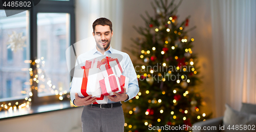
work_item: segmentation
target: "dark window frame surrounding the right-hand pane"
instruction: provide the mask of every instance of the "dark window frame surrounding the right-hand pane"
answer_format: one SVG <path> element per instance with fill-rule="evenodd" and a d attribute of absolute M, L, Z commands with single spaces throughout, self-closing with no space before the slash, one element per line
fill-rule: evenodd
<path fill-rule="evenodd" d="M 3 9 L 0 7 L 0 9 Z M 35 7 L 31 8 L 29 11 L 29 44 L 30 44 L 30 60 L 33 62 L 37 57 L 37 13 L 69 13 L 70 15 L 70 42 L 69 45 L 75 43 L 75 1 L 49 1 L 49 0 L 41 0 Z M 38 47 L 39 48 L 39 47 Z M 30 65 L 30 68 L 33 70 L 36 69 L 35 65 Z M 29 72 L 29 71 L 28 71 Z M 32 77 L 31 77 L 32 78 Z M 71 82 L 70 78 L 70 82 Z M 57 95 L 49 95 L 39 97 L 37 90 L 34 88 L 37 87 L 37 83 L 33 83 L 31 85 L 31 92 L 33 93 L 32 99 L 32 106 L 33 105 L 40 105 L 40 104 L 48 104 L 59 102 L 59 96 Z M 63 100 L 68 100 L 69 98 L 65 97 Z M 0 104 L 8 104 L 11 102 L 15 104 L 15 102 L 23 103 L 25 99 L 13 99 L 13 100 L 6 100 L 0 102 Z"/>

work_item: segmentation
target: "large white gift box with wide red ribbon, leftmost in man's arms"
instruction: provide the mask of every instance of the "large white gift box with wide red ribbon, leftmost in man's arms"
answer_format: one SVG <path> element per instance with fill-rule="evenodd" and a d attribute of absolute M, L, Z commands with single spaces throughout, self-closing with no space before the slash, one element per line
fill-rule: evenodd
<path fill-rule="evenodd" d="M 97 99 L 94 104 L 108 103 L 108 97 L 101 94 L 99 85 L 99 81 L 104 78 L 99 69 L 100 64 L 101 62 L 96 59 L 93 61 L 86 61 L 86 64 L 81 67 L 83 70 L 78 71 L 83 72 L 83 76 L 73 77 L 70 94 L 75 95 L 75 93 L 78 93 L 78 96 L 82 98 L 92 95 Z"/>

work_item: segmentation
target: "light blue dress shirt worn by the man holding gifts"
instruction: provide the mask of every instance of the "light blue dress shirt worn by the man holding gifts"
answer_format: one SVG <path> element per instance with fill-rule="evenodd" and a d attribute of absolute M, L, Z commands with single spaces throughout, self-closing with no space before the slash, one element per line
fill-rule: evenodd
<path fill-rule="evenodd" d="M 80 56 L 78 56 L 76 62 L 79 62 L 82 64 L 82 66 L 84 66 L 87 60 L 91 60 L 91 59 L 101 57 L 101 56 L 108 56 L 107 54 L 119 54 L 123 57 L 122 61 L 120 62 L 121 67 L 123 69 L 122 75 L 129 78 L 129 86 L 128 86 L 128 88 L 126 88 L 126 89 L 128 89 L 126 94 L 129 96 L 129 99 L 127 99 L 127 100 L 132 99 L 139 92 L 139 84 L 138 84 L 137 74 L 135 72 L 131 58 L 125 52 L 118 51 L 116 49 L 113 49 L 110 46 L 110 49 L 105 51 L 104 55 L 102 55 L 101 52 L 98 51 L 95 46 L 92 50 L 85 52 L 84 54 L 81 54 Z M 76 65 L 77 65 L 77 63 L 76 63 Z M 75 96 L 71 95 L 72 102 L 74 102 L 74 99 L 75 99 Z M 115 103 L 115 102 L 111 101 L 109 99 L 108 103 Z"/>

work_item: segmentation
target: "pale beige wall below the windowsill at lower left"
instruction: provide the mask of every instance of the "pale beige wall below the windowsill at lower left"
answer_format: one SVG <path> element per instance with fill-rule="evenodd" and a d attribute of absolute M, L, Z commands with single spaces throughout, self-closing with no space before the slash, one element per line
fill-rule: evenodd
<path fill-rule="evenodd" d="M 81 132 L 82 107 L 0 120 L 1 131 Z"/>

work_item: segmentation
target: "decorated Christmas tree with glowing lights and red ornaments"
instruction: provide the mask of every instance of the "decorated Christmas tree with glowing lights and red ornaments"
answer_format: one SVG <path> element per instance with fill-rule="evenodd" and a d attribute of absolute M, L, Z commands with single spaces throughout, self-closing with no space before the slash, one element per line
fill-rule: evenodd
<path fill-rule="evenodd" d="M 191 126 L 211 115 L 200 111 L 204 102 L 195 91 L 201 82 L 196 55 L 191 50 L 194 38 L 186 35 L 196 27 L 187 29 L 190 16 L 178 23 L 176 13 L 181 2 L 156 0 L 151 3 L 155 16 L 145 12 L 147 18 L 141 15 L 145 27 L 134 27 L 141 35 L 132 39 L 133 55 L 141 60 L 134 63 L 140 92 L 125 102 L 125 131 L 152 131 L 153 126 L 161 131 L 157 126 L 166 125 L 168 128 Z"/>

